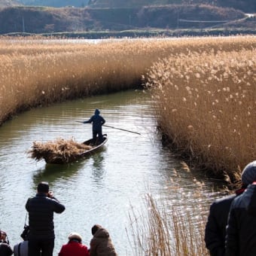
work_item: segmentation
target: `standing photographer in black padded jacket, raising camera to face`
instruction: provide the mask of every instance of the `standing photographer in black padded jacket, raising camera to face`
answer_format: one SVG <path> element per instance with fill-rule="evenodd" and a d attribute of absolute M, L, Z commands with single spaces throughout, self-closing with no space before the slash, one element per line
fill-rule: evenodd
<path fill-rule="evenodd" d="M 65 206 L 49 192 L 47 182 L 38 184 L 38 193 L 26 202 L 29 212 L 29 256 L 52 256 L 54 248 L 53 213 L 61 213 Z"/>

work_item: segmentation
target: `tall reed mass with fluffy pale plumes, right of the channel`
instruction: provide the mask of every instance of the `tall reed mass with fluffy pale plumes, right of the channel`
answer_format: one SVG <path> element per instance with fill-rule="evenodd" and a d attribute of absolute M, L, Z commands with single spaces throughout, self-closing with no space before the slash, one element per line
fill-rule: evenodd
<path fill-rule="evenodd" d="M 172 54 L 148 73 L 158 124 L 172 147 L 232 182 L 256 158 L 256 38 L 251 39 L 249 48 L 233 44 Z M 242 45 L 247 39 L 240 40 Z"/>

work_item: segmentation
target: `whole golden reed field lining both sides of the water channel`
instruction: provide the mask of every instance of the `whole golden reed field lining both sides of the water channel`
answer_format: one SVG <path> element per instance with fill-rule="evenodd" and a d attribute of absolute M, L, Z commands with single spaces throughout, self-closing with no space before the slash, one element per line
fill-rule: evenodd
<path fill-rule="evenodd" d="M 0 38 L 0 123 L 65 99 L 151 88 L 156 117 L 176 149 L 227 173 L 254 160 L 254 36 L 110 40 Z"/>

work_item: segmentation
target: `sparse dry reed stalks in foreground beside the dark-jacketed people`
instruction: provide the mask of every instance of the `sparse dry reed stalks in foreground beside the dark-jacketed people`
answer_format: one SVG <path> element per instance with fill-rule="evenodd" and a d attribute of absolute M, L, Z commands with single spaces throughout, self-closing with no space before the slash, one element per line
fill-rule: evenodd
<path fill-rule="evenodd" d="M 182 195 L 183 189 L 173 183 L 169 184 L 168 190 L 169 194 L 173 190 L 181 190 Z M 194 194 L 186 195 L 187 199 L 182 197 L 175 203 L 169 199 L 164 200 L 164 197 L 156 200 L 148 193 L 141 212 L 132 208 L 129 218 L 133 238 L 130 238 L 130 243 L 134 255 L 209 255 L 204 242 L 209 206 L 202 184 L 195 188 Z"/>

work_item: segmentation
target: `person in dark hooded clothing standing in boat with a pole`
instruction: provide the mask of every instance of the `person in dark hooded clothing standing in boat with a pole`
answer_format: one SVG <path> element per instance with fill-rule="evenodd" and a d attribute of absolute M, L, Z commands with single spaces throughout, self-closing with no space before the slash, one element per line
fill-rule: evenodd
<path fill-rule="evenodd" d="M 96 144 L 97 136 L 99 143 L 102 142 L 102 125 L 105 123 L 105 119 L 100 115 L 99 109 L 96 108 L 93 116 L 83 123 L 93 123 L 93 144 Z"/>

